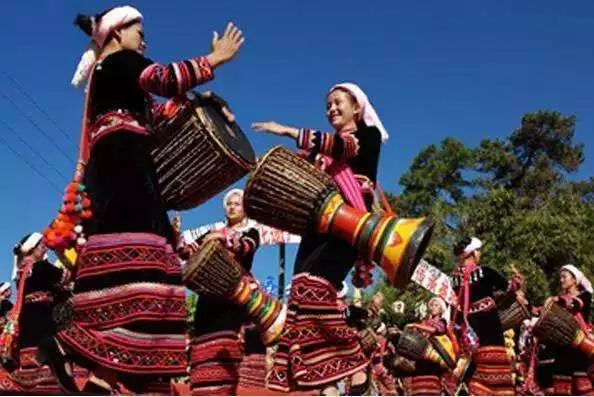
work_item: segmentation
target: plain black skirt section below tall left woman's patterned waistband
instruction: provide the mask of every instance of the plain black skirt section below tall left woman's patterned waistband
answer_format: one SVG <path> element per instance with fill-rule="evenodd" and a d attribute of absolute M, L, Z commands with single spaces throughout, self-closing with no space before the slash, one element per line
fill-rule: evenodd
<path fill-rule="evenodd" d="M 151 140 L 119 131 L 93 146 L 85 173 L 93 210 L 92 219 L 84 224 L 88 236 L 144 232 L 163 236 L 174 244 L 150 155 Z"/>

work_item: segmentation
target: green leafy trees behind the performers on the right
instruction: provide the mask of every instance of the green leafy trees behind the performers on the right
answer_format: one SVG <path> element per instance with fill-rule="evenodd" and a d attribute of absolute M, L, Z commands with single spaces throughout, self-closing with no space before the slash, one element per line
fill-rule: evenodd
<path fill-rule="evenodd" d="M 515 266 L 528 298 L 542 304 L 557 292 L 563 264 L 594 276 L 594 178 L 569 180 L 584 161 L 574 134 L 574 116 L 538 111 L 526 114 L 508 138 L 485 139 L 476 148 L 446 138 L 415 157 L 400 178 L 402 194 L 389 201 L 400 216 L 435 221 L 425 254 L 430 263 L 450 271 L 455 242 L 476 235 L 486 243 L 482 263 L 504 273 Z M 416 286 L 395 291 L 383 282 L 377 288 L 386 307 L 399 299 L 411 309 L 427 298 Z M 401 317 L 389 320 L 397 324 Z"/>

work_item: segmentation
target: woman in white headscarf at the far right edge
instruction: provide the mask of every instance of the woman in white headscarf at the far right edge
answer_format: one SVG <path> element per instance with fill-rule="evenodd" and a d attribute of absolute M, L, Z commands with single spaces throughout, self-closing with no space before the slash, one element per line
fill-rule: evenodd
<path fill-rule="evenodd" d="M 592 304 L 592 284 L 574 265 L 565 265 L 559 271 L 561 293 L 549 298 L 574 315 L 586 335 L 591 333 L 590 312 Z M 555 353 L 553 363 L 553 394 L 586 395 L 592 391 L 588 376 L 589 359 L 579 351 L 569 347 L 560 348 Z"/>

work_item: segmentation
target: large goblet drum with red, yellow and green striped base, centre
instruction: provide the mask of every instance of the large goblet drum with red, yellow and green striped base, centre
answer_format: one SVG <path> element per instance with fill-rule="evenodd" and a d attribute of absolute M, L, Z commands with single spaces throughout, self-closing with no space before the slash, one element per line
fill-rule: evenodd
<path fill-rule="evenodd" d="M 397 287 L 410 280 L 433 230 L 426 218 L 404 219 L 347 205 L 329 175 L 280 146 L 268 151 L 250 175 L 244 206 L 260 223 L 347 241 Z"/>

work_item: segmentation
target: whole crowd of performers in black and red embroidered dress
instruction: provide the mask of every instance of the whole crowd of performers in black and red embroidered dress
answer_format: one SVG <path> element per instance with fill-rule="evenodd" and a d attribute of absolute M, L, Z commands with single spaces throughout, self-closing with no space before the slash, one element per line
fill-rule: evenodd
<path fill-rule="evenodd" d="M 372 283 L 372 264 L 360 250 L 311 232 L 302 236 L 286 305 L 275 312 L 284 320 L 278 338 L 267 338 L 245 307 L 207 293 L 199 296 L 189 333 L 185 263 L 218 241 L 239 263 L 249 295 L 261 289 L 251 274 L 260 237 L 244 212 L 243 191 L 234 189 L 224 198 L 223 229 L 182 238 L 150 155 L 153 126 L 168 112 L 152 95 L 176 97 L 211 80 L 239 51 L 243 35 L 229 24 L 215 33 L 210 54 L 161 65 L 143 55 L 143 18 L 132 7 L 76 23 L 92 38 L 73 79 L 86 84 L 79 163 L 52 226 L 14 248 L 14 304 L 12 285 L 0 284 L 2 394 L 172 394 L 180 382 L 192 395 L 593 392 L 593 291 L 584 274 L 563 266 L 560 294 L 531 307 L 518 272 L 508 279 L 480 264 L 483 243 L 476 237 L 454 247 L 457 304 L 434 297 L 426 318 L 402 329 L 382 321 L 381 294 L 368 305 L 347 297 L 349 273 L 357 287 Z M 377 186 L 388 134 L 369 99 L 355 84 L 335 85 L 326 115 L 334 133 L 275 122 L 253 128 L 293 139 L 348 205 L 391 213 Z M 49 249 L 60 266 L 48 261 Z M 250 296 L 259 303 L 247 307 L 266 318 L 270 305 L 260 306 L 271 298 Z M 502 302 L 510 301 L 530 313 L 515 338 L 501 318 Z M 578 327 L 559 346 L 537 332 L 551 307 Z"/>

